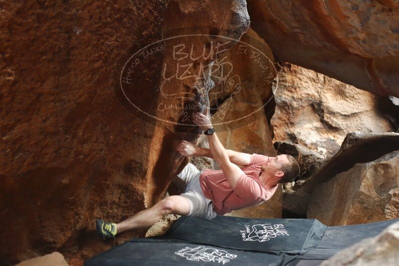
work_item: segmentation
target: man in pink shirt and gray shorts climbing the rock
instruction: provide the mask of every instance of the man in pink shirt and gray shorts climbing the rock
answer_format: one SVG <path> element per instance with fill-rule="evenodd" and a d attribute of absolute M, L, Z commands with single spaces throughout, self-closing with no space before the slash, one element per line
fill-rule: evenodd
<path fill-rule="evenodd" d="M 127 230 L 149 228 L 167 214 L 213 219 L 233 210 L 259 205 L 271 198 L 278 183 L 290 182 L 299 173 L 299 165 L 291 155 L 268 157 L 227 150 L 207 116 L 194 113 L 193 122 L 207 135 L 210 148 L 196 147 L 183 140 L 176 150 L 187 157 L 211 157 L 222 170 L 200 172 L 188 163 L 178 174 L 178 180 L 184 182 L 184 190 L 181 190 L 184 193 L 169 196 L 118 224 L 98 219 L 96 228 L 100 236 L 110 238 Z"/>

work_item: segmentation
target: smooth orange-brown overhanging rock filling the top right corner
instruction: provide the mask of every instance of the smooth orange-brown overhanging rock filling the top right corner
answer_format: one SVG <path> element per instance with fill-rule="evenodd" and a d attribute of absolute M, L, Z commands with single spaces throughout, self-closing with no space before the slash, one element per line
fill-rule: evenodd
<path fill-rule="evenodd" d="M 399 96 L 396 0 L 248 0 L 251 25 L 281 59 Z"/>

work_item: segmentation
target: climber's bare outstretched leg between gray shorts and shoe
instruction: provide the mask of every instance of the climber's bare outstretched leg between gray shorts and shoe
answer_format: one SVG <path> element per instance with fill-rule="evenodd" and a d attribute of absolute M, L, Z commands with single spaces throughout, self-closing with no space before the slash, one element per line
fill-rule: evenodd
<path fill-rule="evenodd" d="M 147 210 L 140 211 L 117 224 L 117 233 L 127 230 L 149 228 L 163 216 L 168 214 L 187 215 L 190 212 L 190 203 L 187 198 L 182 196 L 170 196 Z"/>

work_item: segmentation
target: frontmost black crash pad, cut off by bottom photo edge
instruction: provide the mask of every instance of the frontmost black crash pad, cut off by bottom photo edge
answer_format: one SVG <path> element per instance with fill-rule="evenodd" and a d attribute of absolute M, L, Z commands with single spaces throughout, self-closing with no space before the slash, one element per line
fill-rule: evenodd
<path fill-rule="evenodd" d="M 85 262 L 85 266 L 279 266 L 284 257 L 167 239 L 135 239 Z M 265 262 L 267 262 L 265 264 Z"/>

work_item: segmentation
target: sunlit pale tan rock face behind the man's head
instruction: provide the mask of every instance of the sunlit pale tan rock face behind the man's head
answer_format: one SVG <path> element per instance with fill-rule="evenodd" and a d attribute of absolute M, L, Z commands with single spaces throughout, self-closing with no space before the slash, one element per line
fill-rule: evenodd
<path fill-rule="evenodd" d="M 397 130 L 380 111 L 385 103 L 381 98 L 312 70 L 284 64 L 275 89 L 274 140 L 303 145 L 329 159 L 349 132 Z"/>

